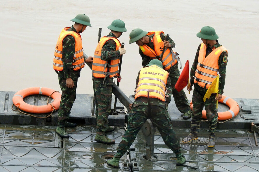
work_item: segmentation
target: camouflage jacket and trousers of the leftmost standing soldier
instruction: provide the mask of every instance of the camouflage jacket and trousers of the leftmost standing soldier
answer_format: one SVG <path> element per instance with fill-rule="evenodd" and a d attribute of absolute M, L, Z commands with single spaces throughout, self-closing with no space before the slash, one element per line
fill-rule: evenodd
<path fill-rule="evenodd" d="M 67 31 L 74 31 L 77 33 L 73 26 Z M 58 110 L 58 127 L 64 127 L 64 122 L 69 119 L 71 108 L 76 99 L 77 79 L 80 77 L 81 70 L 74 71 L 71 69 L 76 47 L 74 37 L 71 35 L 66 36 L 62 42 L 62 46 L 63 71 L 58 72 L 58 80 L 62 91 L 60 107 Z M 73 88 L 67 87 L 67 78 L 71 78 L 74 81 L 75 86 Z"/>

